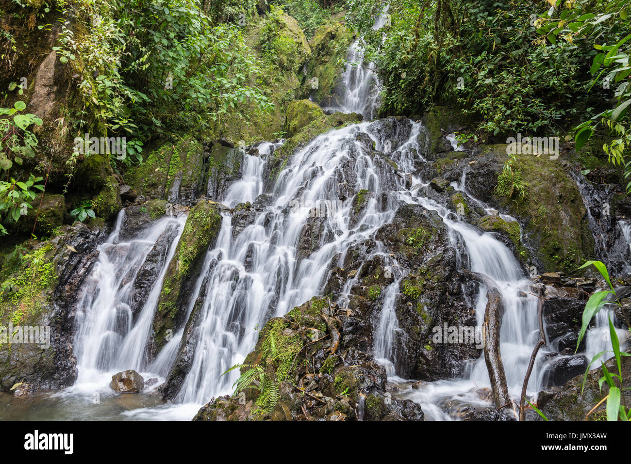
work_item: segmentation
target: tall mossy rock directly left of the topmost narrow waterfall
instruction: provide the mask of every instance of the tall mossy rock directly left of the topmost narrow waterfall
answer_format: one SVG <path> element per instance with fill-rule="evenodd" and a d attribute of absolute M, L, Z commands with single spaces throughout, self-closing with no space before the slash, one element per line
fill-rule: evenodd
<path fill-rule="evenodd" d="M 341 85 L 345 57 L 353 35 L 339 22 L 317 28 L 309 42 L 312 54 L 307 61 L 307 81 L 302 94 L 321 105 L 332 106 L 336 88 Z M 316 80 L 317 79 L 317 80 Z"/>

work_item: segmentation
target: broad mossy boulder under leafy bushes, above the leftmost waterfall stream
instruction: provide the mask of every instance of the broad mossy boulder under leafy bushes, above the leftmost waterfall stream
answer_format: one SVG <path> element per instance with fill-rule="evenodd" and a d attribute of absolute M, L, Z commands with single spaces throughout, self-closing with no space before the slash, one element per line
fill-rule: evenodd
<path fill-rule="evenodd" d="M 152 151 L 140 166 L 127 173 L 126 182 L 139 195 L 189 204 L 203 192 L 203 171 L 203 146 L 186 136 Z"/>

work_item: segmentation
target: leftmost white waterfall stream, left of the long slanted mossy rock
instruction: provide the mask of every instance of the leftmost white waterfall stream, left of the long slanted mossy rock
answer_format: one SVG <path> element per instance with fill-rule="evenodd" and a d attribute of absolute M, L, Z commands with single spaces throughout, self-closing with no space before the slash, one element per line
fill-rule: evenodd
<path fill-rule="evenodd" d="M 184 229 L 186 216 L 163 217 L 129 240 L 119 240 L 125 212 L 99 246 L 98 261 L 81 289 L 74 340 L 77 383 L 98 383 L 124 369 L 148 367 L 151 323 L 167 264 Z M 148 255 L 158 268 L 144 303 L 134 308 L 134 290 Z"/>

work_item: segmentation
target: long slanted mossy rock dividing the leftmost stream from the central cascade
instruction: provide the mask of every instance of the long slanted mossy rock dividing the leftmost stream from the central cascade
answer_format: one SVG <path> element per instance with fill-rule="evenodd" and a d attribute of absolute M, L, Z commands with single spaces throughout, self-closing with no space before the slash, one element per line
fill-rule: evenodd
<path fill-rule="evenodd" d="M 186 219 L 175 255 L 168 264 L 158 309 L 153 318 L 155 352 L 162 349 L 167 341 L 167 330 L 174 330 L 176 325 L 182 323 L 181 310 L 186 310 L 189 293 L 195 284 L 205 252 L 215 241 L 221 227 L 221 214 L 217 205 L 209 200 L 200 200 Z"/>

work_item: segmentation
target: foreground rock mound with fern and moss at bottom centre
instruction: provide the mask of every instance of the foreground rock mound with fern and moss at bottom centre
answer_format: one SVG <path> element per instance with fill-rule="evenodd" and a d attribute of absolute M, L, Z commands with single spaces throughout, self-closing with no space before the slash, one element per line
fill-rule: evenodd
<path fill-rule="evenodd" d="M 372 355 L 339 341 L 348 335 L 345 315 L 338 306 L 314 298 L 270 320 L 245 362 L 264 363 L 270 337 L 278 344 L 291 340 L 296 359 L 282 371 L 286 381 L 278 379 L 278 404 L 262 410 L 261 393 L 249 389 L 216 398 L 193 420 L 423 420 L 420 405 L 387 391 L 386 371 Z M 272 362 L 266 369 L 278 374 L 282 367 Z"/>

